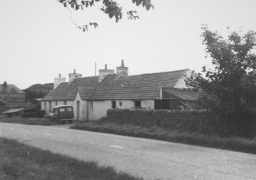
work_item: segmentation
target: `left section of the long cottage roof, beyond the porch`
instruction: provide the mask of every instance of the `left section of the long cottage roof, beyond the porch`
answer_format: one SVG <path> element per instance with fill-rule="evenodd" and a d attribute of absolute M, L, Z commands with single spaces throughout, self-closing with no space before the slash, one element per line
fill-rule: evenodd
<path fill-rule="evenodd" d="M 79 88 L 94 88 L 98 84 L 99 76 L 91 76 L 75 79 L 70 84 L 63 82 L 57 88 L 51 90 L 43 100 L 73 100 Z"/>

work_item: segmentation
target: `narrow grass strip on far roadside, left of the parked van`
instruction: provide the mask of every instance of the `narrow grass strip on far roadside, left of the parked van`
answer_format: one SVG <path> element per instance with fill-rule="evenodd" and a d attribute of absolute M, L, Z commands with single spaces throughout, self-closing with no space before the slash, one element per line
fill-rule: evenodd
<path fill-rule="evenodd" d="M 16 124 L 27 124 L 27 125 L 42 125 L 51 126 L 59 123 L 49 121 L 47 118 L 34 118 L 34 117 L 6 117 L 0 116 L 0 122 L 2 123 L 16 123 Z"/>

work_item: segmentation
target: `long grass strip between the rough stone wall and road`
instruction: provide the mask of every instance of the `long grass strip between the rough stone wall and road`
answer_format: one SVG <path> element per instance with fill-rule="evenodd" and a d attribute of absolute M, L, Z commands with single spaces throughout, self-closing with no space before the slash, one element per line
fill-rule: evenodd
<path fill-rule="evenodd" d="M 144 137 L 155 140 L 165 140 L 175 143 L 186 143 L 256 154 L 256 137 L 254 139 L 245 139 L 242 137 L 219 137 L 217 135 L 205 135 L 200 133 L 170 132 L 157 126 L 139 127 L 132 124 L 115 124 L 109 121 L 80 123 L 75 124 L 70 128 L 102 133 L 114 133 L 130 137 Z"/>

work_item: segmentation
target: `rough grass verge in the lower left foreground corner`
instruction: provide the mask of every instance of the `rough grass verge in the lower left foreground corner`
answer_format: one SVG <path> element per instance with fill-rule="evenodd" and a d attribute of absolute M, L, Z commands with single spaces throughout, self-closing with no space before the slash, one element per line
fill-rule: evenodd
<path fill-rule="evenodd" d="M 141 179 L 96 162 L 79 161 L 5 138 L 0 138 L 0 157 L 1 180 Z"/>

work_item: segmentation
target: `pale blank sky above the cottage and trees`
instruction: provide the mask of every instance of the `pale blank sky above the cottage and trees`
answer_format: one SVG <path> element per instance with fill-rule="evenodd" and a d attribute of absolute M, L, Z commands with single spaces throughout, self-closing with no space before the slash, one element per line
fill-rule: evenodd
<path fill-rule="evenodd" d="M 202 24 L 224 36 L 256 31 L 255 0 L 151 0 L 146 11 L 131 0 L 118 1 L 140 20 L 115 23 L 96 5 L 70 11 L 57 0 L 0 0 L 0 84 L 24 89 L 66 77 L 76 69 L 85 76 L 115 69 L 125 59 L 129 75 L 210 66 L 202 44 Z M 74 24 L 98 22 L 83 32 Z"/>

